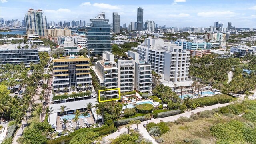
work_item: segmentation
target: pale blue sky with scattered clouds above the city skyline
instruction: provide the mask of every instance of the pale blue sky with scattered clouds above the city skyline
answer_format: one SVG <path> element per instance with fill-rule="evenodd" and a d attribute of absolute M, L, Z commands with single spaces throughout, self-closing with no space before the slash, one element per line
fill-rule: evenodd
<path fill-rule="evenodd" d="M 228 22 L 236 28 L 256 28 L 256 0 L 0 0 L 0 18 L 23 20 L 27 10 L 43 10 L 47 22 L 85 20 L 105 12 L 112 23 L 112 12 L 120 15 L 120 25 L 137 21 L 137 8 L 144 9 L 144 22 L 158 26 L 208 27 Z"/>

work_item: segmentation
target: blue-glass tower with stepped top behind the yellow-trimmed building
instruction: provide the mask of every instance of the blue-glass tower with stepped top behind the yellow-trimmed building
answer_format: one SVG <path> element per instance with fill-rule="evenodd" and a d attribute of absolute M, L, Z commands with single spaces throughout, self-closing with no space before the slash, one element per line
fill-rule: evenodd
<path fill-rule="evenodd" d="M 112 51 L 110 25 L 108 24 L 108 19 L 104 19 L 104 17 L 105 13 L 100 12 L 96 18 L 90 19 L 92 24 L 86 27 L 88 52 L 92 50 L 91 54 L 93 56 Z"/>

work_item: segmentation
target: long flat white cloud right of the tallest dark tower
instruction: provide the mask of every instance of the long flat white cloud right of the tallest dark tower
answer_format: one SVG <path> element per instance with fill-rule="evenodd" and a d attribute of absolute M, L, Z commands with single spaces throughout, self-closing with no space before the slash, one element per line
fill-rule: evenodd
<path fill-rule="evenodd" d="M 197 16 L 202 16 L 202 17 L 217 17 L 217 16 L 228 16 L 232 17 L 235 16 L 235 12 L 231 11 L 211 11 L 211 12 L 198 12 Z"/>

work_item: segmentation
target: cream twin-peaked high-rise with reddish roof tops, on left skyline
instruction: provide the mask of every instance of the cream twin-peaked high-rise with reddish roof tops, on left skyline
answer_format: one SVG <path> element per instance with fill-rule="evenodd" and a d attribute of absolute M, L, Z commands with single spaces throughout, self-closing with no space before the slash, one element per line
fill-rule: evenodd
<path fill-rule="evenodd" d="M 25 14 L 27 34 L 47 36 L 47 20 L 42 10 L 29 9 Z"/>

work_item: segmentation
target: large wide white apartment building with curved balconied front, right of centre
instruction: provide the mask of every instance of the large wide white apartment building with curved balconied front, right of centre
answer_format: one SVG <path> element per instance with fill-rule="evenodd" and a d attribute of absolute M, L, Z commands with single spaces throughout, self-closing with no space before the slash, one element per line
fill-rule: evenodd
<path fill-rule="evenodd" d="M 148 39 L 138 46 L 139 58 L 149 62 L 152 70 L 168 82 L 188 80 L 190 52 L 182 46 L 166 44 L 161 39 Z"/>

